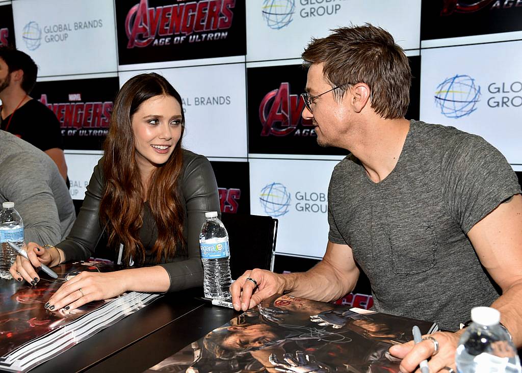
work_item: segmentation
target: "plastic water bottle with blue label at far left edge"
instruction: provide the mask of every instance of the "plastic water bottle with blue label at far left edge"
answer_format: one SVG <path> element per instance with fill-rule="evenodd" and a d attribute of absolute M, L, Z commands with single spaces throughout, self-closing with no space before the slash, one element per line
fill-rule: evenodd
<path fill-rule="evenodd" d="M 20 214 L 15 210 L 15 202 L 2 203 L 0 211 L 0 242 L 2 243 L 2 251 L 0 251 L 0 278 L 12 279 L 9 268 L 15 262 L 18 255 L 7 241 L 11 241 L 18 247 L 23 247 L 23 222 Z"/>

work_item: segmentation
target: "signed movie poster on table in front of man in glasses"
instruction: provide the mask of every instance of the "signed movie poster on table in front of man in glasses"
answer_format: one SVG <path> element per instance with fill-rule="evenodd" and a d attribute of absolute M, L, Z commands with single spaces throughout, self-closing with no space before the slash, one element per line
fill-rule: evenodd
<path fill-rule="evenodd" d="M 436 325 L 330 303 L 274 295 L 152 366 L 167 372 L 398 373 L 393 344 Z"/>

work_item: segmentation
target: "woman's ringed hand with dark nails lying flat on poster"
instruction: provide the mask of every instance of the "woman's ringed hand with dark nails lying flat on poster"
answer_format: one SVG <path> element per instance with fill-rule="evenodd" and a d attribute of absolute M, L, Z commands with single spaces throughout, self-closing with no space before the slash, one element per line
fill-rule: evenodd
<path fill-rule="evenodd" d="M 64 283 L 45 304 L 45 308 L 72 311 L 93 300 L 109 299 L 124 293 L 127 288 L 122 271 L 98 273 L 81 272 Z"/>

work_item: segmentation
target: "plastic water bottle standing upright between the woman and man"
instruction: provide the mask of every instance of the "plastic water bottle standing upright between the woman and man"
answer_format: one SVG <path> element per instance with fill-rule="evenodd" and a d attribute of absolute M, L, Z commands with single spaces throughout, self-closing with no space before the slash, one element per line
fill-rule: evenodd
<path fill-rule="evenodd" d="M 230 300 L 230 250 L 228 233 L 216 211 L 206 212 L 199 234 L 203 261 L 203 291 L 207 298 Z"/>

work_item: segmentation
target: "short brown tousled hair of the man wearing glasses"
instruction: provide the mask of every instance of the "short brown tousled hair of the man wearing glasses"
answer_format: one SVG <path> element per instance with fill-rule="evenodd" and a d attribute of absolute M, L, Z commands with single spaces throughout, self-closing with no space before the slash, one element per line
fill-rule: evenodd
<path fill-rule="evenodd" d="M 351 84 L 366 83 L 375 113 L 388 119 L 404 117 L 410 103 L 411 69 L 392 35 L 369 23 L 332 31 L 326 38 L 312 39 L 302 54 L 305 63 L 323 63 L 332 88 L 346 86 L 342 93 Z"/>

